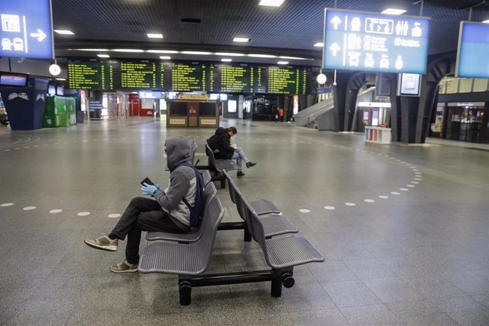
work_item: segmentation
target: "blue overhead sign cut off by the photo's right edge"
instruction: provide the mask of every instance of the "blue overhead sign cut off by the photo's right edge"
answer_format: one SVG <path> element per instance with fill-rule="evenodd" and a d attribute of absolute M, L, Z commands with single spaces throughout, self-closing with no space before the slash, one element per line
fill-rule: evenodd
<path fill-rule="evenodd" d="M 489 78 L 489 25 L 460 22 L 456 77 Z"/>

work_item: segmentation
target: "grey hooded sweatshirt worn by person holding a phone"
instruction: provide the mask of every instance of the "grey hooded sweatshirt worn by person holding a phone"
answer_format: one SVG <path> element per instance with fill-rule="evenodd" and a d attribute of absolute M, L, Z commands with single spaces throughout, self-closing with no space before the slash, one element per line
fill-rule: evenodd
<path fill-rule="evenodd" d="M 165 146 L 170 180 L 168 188 L 164 192 L 156 191 L 154 198 L 181 230 L 189 231 L 190 210 L 182 198 L 186 198 L 190 206 L 195 205 L 197 179 L 191 167 L 176 166 L 182 162 L 190 162 L 190 144 L 184 136 L 169 136 Z"/>

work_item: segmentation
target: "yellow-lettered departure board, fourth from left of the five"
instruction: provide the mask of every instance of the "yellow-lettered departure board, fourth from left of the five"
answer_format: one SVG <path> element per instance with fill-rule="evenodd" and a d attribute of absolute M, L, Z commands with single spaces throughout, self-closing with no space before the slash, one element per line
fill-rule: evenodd
<path fill-rule="evenodd" d="M 265 91 L 262 68 L 243 66 L 220 67 L 220 89 L 222 92 L 257 93 Z"/>

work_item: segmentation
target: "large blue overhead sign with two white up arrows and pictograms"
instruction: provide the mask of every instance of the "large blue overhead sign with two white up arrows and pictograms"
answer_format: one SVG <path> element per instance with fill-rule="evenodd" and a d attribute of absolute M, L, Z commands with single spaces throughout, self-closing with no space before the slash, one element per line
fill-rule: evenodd
<path fill-rule="evenodd" d="M 429 18 L 325 9 L 322 67 L 425 74 Z"/>

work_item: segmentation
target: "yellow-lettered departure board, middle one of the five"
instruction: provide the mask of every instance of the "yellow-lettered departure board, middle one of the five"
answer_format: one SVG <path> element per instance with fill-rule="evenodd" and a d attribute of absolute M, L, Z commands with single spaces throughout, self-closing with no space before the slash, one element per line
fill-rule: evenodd
<path fill-rule="evenodd" d="M 213 64 L 162 64 L 162 69 L 171 69 L 173 91 L 214 91 Z"/>

